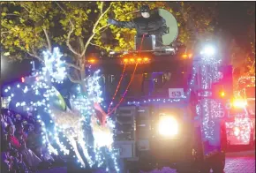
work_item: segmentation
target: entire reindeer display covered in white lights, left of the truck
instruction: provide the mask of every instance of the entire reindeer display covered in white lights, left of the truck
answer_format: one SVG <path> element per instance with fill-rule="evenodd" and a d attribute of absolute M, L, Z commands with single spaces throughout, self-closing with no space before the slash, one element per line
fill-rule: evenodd
<path fill-rule="evenodd" d="M 25 99 L 31 99 L 16 102 L 15 106 L 26 107 L 31 111 L 38 110 L 37 121 L 42 125 L 43 143 L 47 144 L 50 154 L 60 152 L 71 154 L 73 151 L 75 154 L 73 156 L 77 157 L 82 168 L 98 167 L 105 168 L 107 172 L 119 172 L 117 153 L 112 147 L 115 126 L 109 118 L 106 118 L 106 115 L 106 122 L 100 124 L 95 113 L 95 109 L 99 108 L 94 108 L 95 104 L 100 107 L 103 101 L 99 84 L 100 71 L 95 71 L 94 75 L 85 81 L 86 92 L 82 92 L 81 87 L 77 88 L 70 100 L 72 109 L 69 109 L 62 95 L 52 85 L 55 82 L 63 83 L 66 77 L 64 61 L 61 60 L 62 54 L 59 49 L 55 48 L 52 53 L 45 51 L 43 55 L 45 66 L 41 71 L 34 72 L 33 76 L 29 77 L 34 79 L 29 85 L 7 87 L 4 93 L 8 94 L 8 99 L 14 102 L 13 91 L 19 89 L 25 95 Z M 47 125 L 44 122 L 46 115 L 49 115 Z M 92 132 L 87 129 L 91 129 Z M 89 139 L 90 134 L 94 139 Z"/>

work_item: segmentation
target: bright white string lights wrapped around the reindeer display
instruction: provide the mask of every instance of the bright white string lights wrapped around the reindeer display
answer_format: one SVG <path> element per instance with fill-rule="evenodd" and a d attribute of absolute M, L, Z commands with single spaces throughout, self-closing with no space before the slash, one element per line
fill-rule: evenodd
<path fill-rule="evenodd" d="M 84 154 L 87 159 L 87 163 L 89 167 L 94 167 L 98 165 L 102 167 L 105 165 L 106 169 L 109 170 L 111 167 L 115 167 L 115 171 L 119 172 L 117 167 L 117 154 L 114 152 L 112 148 L 113 144 L 113 132 L 112 129 L 114 125 L 109 125 L 110 120 L 107 120 L 107 127 L 105 127 L 108 132 L 93 132 L 95 144 L 94 146 L 89 146 L 86 142 L 84 134 L 87 133 L 83 130 L 83 124 L 88 124 L 88 120 L 90 121 L 91 117 L 94 116 L 94 102 L 101 103 L 103 101 L 101 95 L 101 86 L 99 84 L 99 72 L 95 71 L 94 76 L 88 79 L 87 82 L 87 95 L 81 93 L 81 88 L 79 87 L 77 93 L 72 97 L 72 110 L 67 108 L 66 111 L 57 111 L 53 109 L 53 103 L 57 100 L 58 93 L 54 87 L 51 86 L 50 82 L 63 83 L 63 80 L 66 76 L 66 71 L 64 68 L 64 61 L 61 60 L 62 54 L 60 53 L 58 48 L 53 49 L 53 53 L 49 51 L 44 51 L 44 62 L 45 66 L 42 68 L 42 71 L 34 73 L 34 76 L 31 78 L 34 79 L 31 81 L 32 85 L 30 87 L 21 88 L 20 85 L 17 85 L 16 88 L 22 89 L 24 94 L 35 94 L 42 95 L 43 99 L 41 101 L 34 102 L 16 102 L 16 107 L 24 107 L 33 108 L 34 110 L 41 108 L 44 112 L 47 112 L 51 118 L 50 123 L 55 125 L 54 134 L 51 134 L 49 130 L 46 129 L 44 122 L 41 120 L 41 116 L 37 115 L 38 122 L 42 124 L 43 130 L 43 142 L 47 143 L 49 153 L 58 154 L 56 148 L 54 148 L 49 141 L 49 136 L 54 137 L 56 144 L 60 148 L 64 154 L 70 154 L 70 150 L 67 149 L 64 145 L 64 142 L 59 139 L 59 134 L 63 133 L 64 138 L 67 139 L 69 144 L 71 145 L 71 149 L 75 153 L 78 158 L 78 162 L 81 164 L 82 168 L 86 167 L 85 161 L 83 161 L 82 156 L 79 152 L 79 148 L 82 150 L 82 154 Z M 8 97 L 9 100 L 14 98 L 15 94 L 11 93 L 11 87 L 7 87 L 4 90 L 5 93 L 10 94 Z M 30 95 L 31 96 L 31 95 Z M 92 128 L 94 129 L 94 128 Z M 106 130 L 105 129 L 105 130 Z M 106 136 L 105 136 L 106 135 Z M 100 139 L 99 137 L 104 137 L 105 140 Z M 102 154 L 102 147 L 106 147 L 110 153 L 110 159 L 113 160 L 114 165 L 109 165 L 107 162 L 106 154 Z M 94 148 L 95 161 L 93 161 L 93 157 L 88 154 L 88 149 Z"/>

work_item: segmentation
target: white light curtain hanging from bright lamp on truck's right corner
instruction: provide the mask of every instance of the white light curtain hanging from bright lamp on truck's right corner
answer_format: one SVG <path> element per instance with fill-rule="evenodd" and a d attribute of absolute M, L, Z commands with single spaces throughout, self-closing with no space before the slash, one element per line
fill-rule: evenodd
<path fill-rule="evenodd" d="M 218 71 L 221 59 L 215 56 L 215 50 L 207 47 L 201 52 L 201 61 L 196 64 L 198 73 L 200 74 L 200 96 L 205 97 L 200 100 L 200 116 L 202 117 L 202 134 L 203 138 L 208 141 L 215 140 L 215 118 L 222 117 L 221 103 L 215 99 L 209 99 L 212 95 L 208 90 L 212 84 L 222 79 L 222 74 Z M 214 106 L 214 108 L 212 107 Z M 221 110 L 221 111 L 220 111 Z"/>

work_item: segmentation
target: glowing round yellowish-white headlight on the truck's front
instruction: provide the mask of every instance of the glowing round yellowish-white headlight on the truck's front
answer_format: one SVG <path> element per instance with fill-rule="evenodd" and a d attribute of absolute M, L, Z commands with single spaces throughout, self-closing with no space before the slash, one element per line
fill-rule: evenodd
<path fill-rule="evenodd" d="M 174 117 L 170 116 L 161 116 L 158 131 L 162 136 L 172 137 L 177 135 L 178 124 L 177 120 Z"/>

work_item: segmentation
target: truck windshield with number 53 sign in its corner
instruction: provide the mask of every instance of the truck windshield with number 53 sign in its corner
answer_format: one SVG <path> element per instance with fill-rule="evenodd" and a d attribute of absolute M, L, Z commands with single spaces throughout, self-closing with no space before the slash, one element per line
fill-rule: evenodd
<path fill-rule="evenodd" d="M 124 94 L 126 87 L 131 81 L 131 76 L 124 75 L 116 94 L 117 98 L 121 98 Z M 108 78 L 105 76 L 103 94 L 107 98 L 113 97 L 116 93 L 120 79 L 121 75 L 109 75 Z M 185 71 L 135 74 L 129 90 L 125 94 L 125 98 L 135 100 L 141 98 L 180 98 L 187 90 L 187 84 L 190 79 L 190 74 Z"/>

